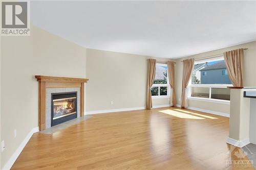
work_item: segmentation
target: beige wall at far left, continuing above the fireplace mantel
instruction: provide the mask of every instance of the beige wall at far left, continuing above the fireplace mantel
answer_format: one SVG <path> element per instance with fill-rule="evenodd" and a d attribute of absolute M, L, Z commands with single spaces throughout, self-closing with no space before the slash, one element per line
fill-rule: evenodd
<path fill-rule="evenodd" d="M 28 133 L 38 127 L 38 83 L 34 76 L 85 78 L 86 48 L 32 26 L 31 36 L 2 37 L 1 60 L 3 167 Z"/>

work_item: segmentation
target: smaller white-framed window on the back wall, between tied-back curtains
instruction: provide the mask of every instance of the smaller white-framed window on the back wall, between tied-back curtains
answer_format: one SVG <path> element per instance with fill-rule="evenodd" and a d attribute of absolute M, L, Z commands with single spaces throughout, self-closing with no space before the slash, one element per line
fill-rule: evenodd
<path fill-rule="evenodd" d="M 156 76 L 151 87 L 151 95 L 152 98 L 165 98 L 169 96 L 167 64 L 156 64 Z"/>

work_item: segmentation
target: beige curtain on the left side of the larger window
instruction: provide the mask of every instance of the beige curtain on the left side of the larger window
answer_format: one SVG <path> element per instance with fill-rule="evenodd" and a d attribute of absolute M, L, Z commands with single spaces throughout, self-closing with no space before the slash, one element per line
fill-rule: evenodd
<path fill-rule="evenodd" d="M 194 68 L 194 59 L 183 60 L 183 78 L 182 78 L 182 93 L 181 93 L 181 108 L 185 108 L 186 88 Z"/>

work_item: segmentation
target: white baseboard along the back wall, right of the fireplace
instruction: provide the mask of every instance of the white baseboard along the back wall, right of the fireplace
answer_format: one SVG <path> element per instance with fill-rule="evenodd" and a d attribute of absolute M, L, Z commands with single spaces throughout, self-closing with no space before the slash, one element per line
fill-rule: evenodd
<path fill-rule="evenodd" d="M 156 106 L 153 106 L 153 108 L 161 108 L 161 107 L 170 107 L 170 105 L 156 105 Z M 111 113 L 111 112 L 122 112 L 122 111 L 132 111 L 132 110 L 143 110 L 143 109 L 145 109 L 144 106 L 142 106 L 142 107 L 131 107 L 131 108 L 121 108 L 121 109 L 85 111 L 84 115 L 100 114 L 100 113 Z"/>

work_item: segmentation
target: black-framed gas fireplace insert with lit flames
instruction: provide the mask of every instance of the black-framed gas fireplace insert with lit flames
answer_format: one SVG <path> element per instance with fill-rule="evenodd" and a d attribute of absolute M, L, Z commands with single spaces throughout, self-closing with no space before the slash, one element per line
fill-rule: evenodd
<path fill-rule="evenodd" d="M 52 93 L 51 126 L 77 117 L 77 92 Z"/>

